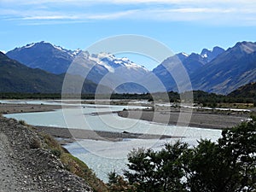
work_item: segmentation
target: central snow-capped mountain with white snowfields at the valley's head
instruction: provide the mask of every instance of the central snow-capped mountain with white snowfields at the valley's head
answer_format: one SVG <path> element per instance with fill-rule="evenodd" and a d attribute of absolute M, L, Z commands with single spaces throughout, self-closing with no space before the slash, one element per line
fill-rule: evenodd
<path fill-rule="evenodd" d="M 147 90 L 138 85 L 150 72 L 128 58 L 118 58 L 108 53 L 90 54 L 83 51 L 73 61 L 68 73 L 79 74 L 96 84 L 103 84 L 115 92 L 143 93 Z"/>

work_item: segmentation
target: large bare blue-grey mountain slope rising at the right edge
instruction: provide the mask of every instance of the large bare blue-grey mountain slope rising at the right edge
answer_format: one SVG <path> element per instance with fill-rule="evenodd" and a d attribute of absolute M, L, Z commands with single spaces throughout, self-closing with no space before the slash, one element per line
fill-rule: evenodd
<path fill-rule="evenodd" d="M 256 43 L 241 42 L 227 49 L 190 76 L 194 90 L 228 94 L 256 81 Z"/>

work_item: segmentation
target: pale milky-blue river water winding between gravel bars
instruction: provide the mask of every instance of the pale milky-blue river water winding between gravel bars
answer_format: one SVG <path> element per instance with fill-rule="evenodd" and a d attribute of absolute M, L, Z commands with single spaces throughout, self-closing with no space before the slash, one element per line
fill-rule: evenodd
<path fill-rule="evenodd" d="M 34 103 L 34 102 L 33 102 Z M 38 102 L 40 105 L 40 102 Z M 44 102 L 43 106 L 47 106 L 48 102 Z M 50 103 L 55 104 L 55 103 Z M 59 104 L 59 103 L 56 103 Z M 72 104 L 72 103 L 68 103 Z M 22 106 L 23 104 L 19 104 Z M 79 105 L 78 105 L 79 106 Z M 10 106 L 11 108 L 12 106 Z M 30 105 L 24 104 L 25 109 L 27 107 L 31 107 Z M 60 106 L 57 106 L 60 108 Z M 79 106 L 80 107 L 80 106 Z M 67 111 L 76 110 L 76 106 L 72 106 L 73 109 L 67 109 Z M 99 108 L 99 111 L 96 110 Z M 111 108 L 109 110 L 109 108 Z M 43 125 L 43 126 L 33 126 L 33 130 L 37 132 L 44 131 L 45 133 L 49 133 L 50 135 L 54 136 L 56 140 L 61 143 L 65 144 L 65 148 L 67 147 L 70 153 L 78 157 L 80 160 L 86 162 L 86 164 L 96 172 L 97 176 L 100 177 L 103 181 L 108 182 L 106 179 L 106 175 L 108 172 L 113 171 L 113 169 L 117 170 L 116 165 L 120 167 L 119 172 L 121 169 L 124 168 L 124 161 L 123 160 L 115 160 L 116 158 L 125 158 L 126 155 L 131 151 L 132 148 L 139 148 L 139 147 L 152 147 L 154 148 L 161 148 L 163 143 L 166 141 L 171 141 L 172 136 L 183 136 L 183 141 L 189 142 L 189 144 L 194 145 L 197 139 L 201 137 L 211 138 L 215 140 L 219 137 L 219 130 L 205 130 L 205 129 L 196 129 L 196 128 L 189 128 L 186 127 L 180 129 L 179 127 L 172 127 L 171 129 L 166 129 L 165 125 L 159 125 L 155 123 L 148 123 L 146 121 L 137 121 L 134 119 L 123 119 L 117 116 L 117 114 L 110 114 L 113 113 L 112 111 L 123 110 L 123 108 L 127 108 L 125 106 L 87 106 L 84 105 L 79 108 L 79 110 L 83 110 L 84 113 L 83 117 L 85 117 L 88 121 L 90 121 L 90 125 L 93 125 L 92 129 L 98 129 L 99 131 L 84 131 L 79 130 L 81 126 L 74 126 L 78 129 L 67 129 L 67 128 L 60 128 L 65 127 L 65 124 L 59 122 L 64 120 L 62 110 L 56 110 L 54 112 L 49 113 L 23 113 L 23 114 L 15 114 L 15 115 L 7 115 L 9 118 L 15 118 L 20 120 L 25 120 L 28 124 L 31 125 Z M 45 111 L 47 108 L 44 108 Z M 28 108 L 31 110 L 31 108 Z M 126 110 L 126 109 L 125 109 Z M 147 110 L 150 110 L 148 108 Z M 42 111 L 42 108 L 41 108 Z M 107 112 L 105 112 L 107 111 Z M 137 109 L 139 111 L 139 109 Z M 26 111 L 23 111 L 26 112 Z M 20 112 L 21 113 L 21 112 Z M 161 113 L 164 113 L 163 111 Z M 165 112 L 167 113 L 167 111 Z M 176 112 L 177 113 L 177 112 Z M 75 113 L 77 115 L 77 113 Z M 20 117 L 21 116 L 21 117 Z M 17 118 L 18 117 L 18 118 Z M 30 121 L 30 119 L 35 119 L 35 121 Z M 53 119 L 53 121 L 51 120 Z M 57 119 L 57 121 L 55 121 Z M 103 119 L 103 120 L 102 120 Z M 105 121 L 106 120 L 106 121 Z M 115 120 L 113 125 L 116 125 L 117 129 L 109 129 L 108 123 L 111 123 L 112 120 Z M 50 127 L 48 126 L 50 125 Z M 58 126 L 58 127 L 52 127 Z M 60 126 L 60 127 L 59 127 Z M 132 126 L 133 129 L 130 129 Z M 84 128 L 86 126 L 83 126 Z M 151 127 L 149 131 L 147 131 L 148 127 Z M 87 127 L 90 128 L 89 126 Z M 110 127 L 111 128 L 111 127 Z M 172 129 L 173 128 L 173 129 Z M 183 131 L 185 129 L 185 131 Z M 109 132 L 108 130 L 119 131 L 119 132 Z M 70 132 L 71 131 L 71 132 Z M 160 136 L 160 135 L 150 135 L 150 134 L 134 134 L 133 132 L 143 132 L 143 133 L 150 133 L 150 134 L 161 134 L 165 133 L 169 136 Z M 185 133 L 185 134 L 184 134 Z M 161 140 L 160 138 L 165 138 Z M 125 139 L 131 138 L 131 139 Z M 135 138 L 135 139 L 133 139 Z M 142 139 L 141 139 L 142 138 Z M 145 138 L 143 140 L 143 138 Z M 171 138 L 171 139 L 169 139 Z M 77 141 L 79 141 L 79 145 Z M 193 140 L 193 141 L 192 141 Z M 67 144 L 68 143 L 68 144 Z M 82 147 L 80 146 L 82 144 Z M 84 147 L 88 148 L 88 150 L 92 153 L 84 153 Z M 79 152 L 78 152 L 79 151 Z M 83 154 L 84 153 L 84 154 Z M 94 157 L 93 154 L 96 154 Z M 99 158 L 103 157 L 103 158 Z M 105 159 L 104 159 L 105 158 Z M 112 158 L 106 159 L 106 158 Z M 107 167 L 107 168 L 106 168 Z"/>

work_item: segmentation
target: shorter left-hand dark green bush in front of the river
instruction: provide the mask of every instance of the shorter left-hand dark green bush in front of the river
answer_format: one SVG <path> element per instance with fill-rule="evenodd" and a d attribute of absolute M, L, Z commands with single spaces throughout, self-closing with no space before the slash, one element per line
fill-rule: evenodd
<path fill-rule="evenodd" d="M 167 143 L 165 148 L 154 152 L 139 148 L 128 155 L 130 171 L 125 171 L 129 182 L 137 191 L 184 191 L 183 169 L 180 158 L 188 148 L 186 143 Z"/>

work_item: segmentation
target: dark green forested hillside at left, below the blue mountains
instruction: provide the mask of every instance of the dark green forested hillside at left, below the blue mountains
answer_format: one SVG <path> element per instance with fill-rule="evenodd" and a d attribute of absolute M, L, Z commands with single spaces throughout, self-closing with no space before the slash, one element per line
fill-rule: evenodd
<path fill-rule="evenodd" d="M 41 69 L 32 69 L 11 60 L 0 52 L 0 92 L 20 93 L 61 93 L 65 75 L 56 75 Z M 74 81 L 81 79 L 79 76 L 72 77 Z M 85 81 L 84 93 L 94 93 L 97 84 Z M 102 90 L 107 87 L 102 86 Z"/>

